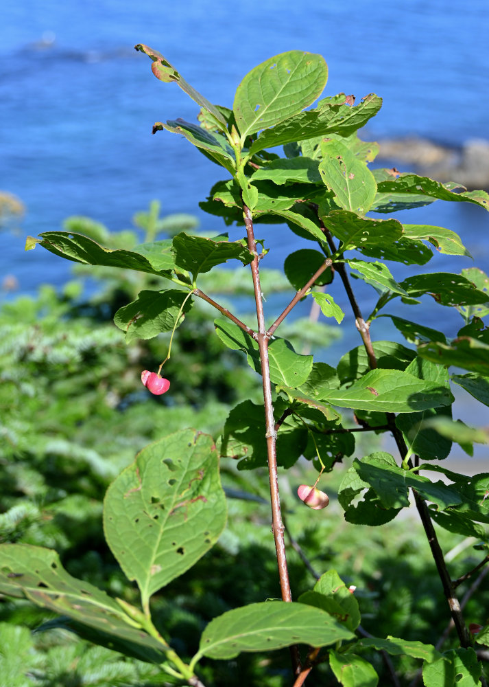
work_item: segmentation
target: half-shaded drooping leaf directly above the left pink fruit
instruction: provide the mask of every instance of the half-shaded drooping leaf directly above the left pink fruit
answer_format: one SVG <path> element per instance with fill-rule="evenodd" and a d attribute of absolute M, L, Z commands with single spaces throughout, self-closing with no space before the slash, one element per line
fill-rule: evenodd
<path fill-rule="evenodd" d="M 152 339 L 161 332 L 169 332 L 176 325 L 180 308 L 187 297 L 184 291 L 140 291 L 136 300 L 119 308 L 114 322 L 126 332 L 126 343 L 135 339 Z M 189 298 L 184 305 L 179 324 L 184 313 L 192 307 Z"/>

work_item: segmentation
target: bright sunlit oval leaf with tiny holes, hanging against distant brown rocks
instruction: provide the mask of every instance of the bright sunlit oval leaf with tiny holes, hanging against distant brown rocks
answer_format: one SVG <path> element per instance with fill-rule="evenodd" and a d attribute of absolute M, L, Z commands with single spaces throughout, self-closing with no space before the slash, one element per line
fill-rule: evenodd
<path fill-rule="evenodd" d="M 357 215 L 366 214 L 377 194 L 372 172 L 342 142 L 327 140 L 321 152 L 319 171 L 326 188 L 335 193 L 335 203 Z"/>

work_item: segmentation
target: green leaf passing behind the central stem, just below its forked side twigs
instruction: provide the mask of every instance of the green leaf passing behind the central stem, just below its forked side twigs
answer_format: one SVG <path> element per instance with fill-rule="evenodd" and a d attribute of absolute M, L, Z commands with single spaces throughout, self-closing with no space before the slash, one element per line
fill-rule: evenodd
<path fill-rule="evenodd" d="M 228 319 L 218 318 L 214 326 L 219 339 L 228 348 L 246 352 L 250 367 L 261 374 L 258 342 Z M 313 364 L 311 355 L 299 355 L 289 341 L 278 337 L 274 337 L 268 344 L 268 358 L 272 382 L 292 388 L 299 387 L 306 381 Z"/>

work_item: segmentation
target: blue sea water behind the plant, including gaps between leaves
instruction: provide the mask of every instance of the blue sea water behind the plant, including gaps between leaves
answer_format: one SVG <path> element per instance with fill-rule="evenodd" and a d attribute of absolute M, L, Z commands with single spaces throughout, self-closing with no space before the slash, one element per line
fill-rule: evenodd
<path fill-rule="evenodd" d="M 289 49 L 318 52 L 329 65 L 324 95 L 383 97 L 366 136 L 420 135 L 460 146 L 489 137 L 488 35 L 486 0 L 3 0 L 0 190 L 19 196 L 27 213 L 19 232 L 0 233 L 0 282 L 14 275 L 21 293 L 65 282 L 71 263 L 40 248 L 26 254 L 23 245 L 27 234 L 59 229 L 73 214 L 122 229 L 158 199 L 165 214 L 197 214 L 204 229 L 222 232 L 198 203 L 225 174 L 184 139 L 151 135 L 155 121 L 195 120 L 198 106 L 176 85 L 158 82 L 134 44 L 158 49 L 208 100 L 226 105 L 261 61 Z M 489 271 L 481 208 L 438 201 L 398 218 L 449 227 L 476 256 L 437 254 L 426 271 L 473 264 Z M 260 228 L 259 236 L 271 267 L 305 245 L 284 227 Z M 406 275 L 398 264 L 392 271 L 398 280 Z M 361 294 L 368 312 L 374 293 Z M 335 297 L 346 306 L 343 295 Z M 429 303 L 411 317 L 448 334 L 462 324 L 453 308 Z M 376 326 L 377 339 L 396 335 L 386 318 Z"/>

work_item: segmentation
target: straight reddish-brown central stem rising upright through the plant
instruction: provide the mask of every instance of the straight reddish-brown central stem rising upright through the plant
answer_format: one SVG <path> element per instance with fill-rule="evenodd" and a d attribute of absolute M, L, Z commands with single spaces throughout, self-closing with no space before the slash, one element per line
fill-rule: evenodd
<path fill-rule="evenodd" d="M 254 259 L 250 263 L 253 278 L 254 301 L 257 307 L 258 322 L 258 346 L 261 361 L 261 379 L 263 382 L 263 403 L 265 405 L 265 437 L 267 440 L 268 475 L 270 480 L 270 501 L 272 505 L 272 532 L 274 534 L 275 550 L 278 565 L 278 577 L 280 579 L 282 599 L 291 601 L 292 594 L 287 569 L 287 556 L 285 554 L 284 526 L 281 517 L 280 493 L 278 491 L 278 469 L 276 458 L 276 431 L 274 407 L 272 403 L 272 382 L 270 380 L 270 363 L 268 360 L 268 337 L 265 330 L 265 317 L 263 314 L 263 302 L 261 300 L 261 285 L 259 274 L 259 256 L 257 243 L 254 240 L 254 229 L 251 210 L 243 202 L 243 218 L 248 237 L 248 249 Z M 298 646 L 290 647 L 294 675 L 300 673 L 300 654 Z"/>

